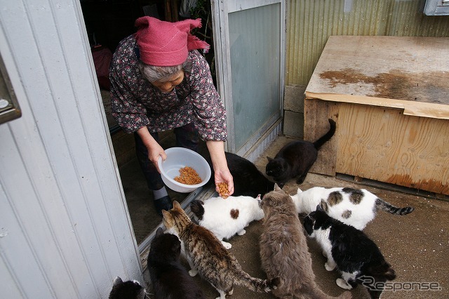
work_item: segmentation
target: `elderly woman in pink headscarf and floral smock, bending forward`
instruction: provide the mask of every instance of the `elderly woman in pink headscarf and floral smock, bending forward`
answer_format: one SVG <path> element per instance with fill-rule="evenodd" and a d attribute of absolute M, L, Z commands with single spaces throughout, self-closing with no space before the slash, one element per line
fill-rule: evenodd
<path fill-rule="evenodd" d="M 134 133 L 136 153 L 156 212 L 172 208 L 157 160 L 166 159 L 158 132 L 174 129 L 176 145 L 198 151 L 206 140 L 215 186 L 234 182 L 225 157 L 226 112 L 213 85 L 208 63 L 197 49 L 206 42 L 190 34 L 201 21 L 163 22 L 143 17 L 138 31 L 116 48 L 110 67 L 112 115 L 123 131 Z M 223 195 L 223 194 L 220 194 Z"/>

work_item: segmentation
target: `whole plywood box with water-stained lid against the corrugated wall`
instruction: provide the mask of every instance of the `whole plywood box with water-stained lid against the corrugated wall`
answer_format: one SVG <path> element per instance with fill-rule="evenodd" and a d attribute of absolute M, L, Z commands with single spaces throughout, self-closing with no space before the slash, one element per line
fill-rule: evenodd
<path fill-rule="evenodd" d="M 449 38 L 330 36 L 304 100 L 304 139 L 337 122 L 311 172 L 449 194 Z"/>

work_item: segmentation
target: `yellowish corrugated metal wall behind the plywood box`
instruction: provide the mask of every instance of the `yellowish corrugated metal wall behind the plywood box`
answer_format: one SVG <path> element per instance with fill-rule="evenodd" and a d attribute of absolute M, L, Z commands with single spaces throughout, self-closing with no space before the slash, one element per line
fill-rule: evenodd
<path fill-rule="evenodd" d="M 449 36 L 424 0 L 288 0 L 286 85 L 307 85 L 330 35 Z"/>

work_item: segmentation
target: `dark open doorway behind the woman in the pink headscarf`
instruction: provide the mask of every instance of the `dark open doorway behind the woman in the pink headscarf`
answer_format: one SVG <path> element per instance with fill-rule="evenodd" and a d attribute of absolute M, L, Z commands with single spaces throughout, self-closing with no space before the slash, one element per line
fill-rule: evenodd
<path fill-rule="evenodd" d="M 206 1 L 199 1 L 201 5 Z M 142 252 L 150 234 L 161 224 L 159 216 L 153 204 L 153 194 L 147 187 L 147 182 L 135 157 L 135 143 L 133 134 L 124 133 L 112 117 L 112 109 L 109 93 L 109 65 L 112 55 L 119 42 L 135 33 L 134 22 L 136 19 L 149 15 L 160 20 L 175 22 L 183 17 L 178 13 L 181 8 L 181 0 L 128 0 L 128 1 L 99 1 L 81 0 L 81 11 L 86 26 L 86 34 L 91 46 L 91 54 L 95 65 L 98 85 L 100 88 L 102 105 L 107 117 L 109 134 L 114 147 L 116 163 L 119 167 L 121 185 L 126 197 L 126 204 L 130 221 L 133 226 L 135 239 Z M 201 32 L 192 32 L 201 39 L 213 45 L 211 20 L 209 26 L 207 19 L 210 18 L 210 5 L 201 7 L 192 17 L 203 18 Z M 203 31 L 203 29 L 206 29 Z M 211 47 L 213 48 L 213 47 Z M 208 62 L 213 62 L 213 51 L 205 54 Z M 175 135 L 173 130 L 159 133 L 159 144 L 167 149 L 175 146 Z M 199 153 L 203 156 L 207 151 L 206 142 L 200 145 Z M 174 192 L 167 188 L 172 200 L 182 203 L 187 197 L 194 194 Z M 198 193 L 199 190 L 196 192 Z M 194 192 L 195 193 L 195 192 Z M 147 240 L 147 241 L 145 241 Z"/>

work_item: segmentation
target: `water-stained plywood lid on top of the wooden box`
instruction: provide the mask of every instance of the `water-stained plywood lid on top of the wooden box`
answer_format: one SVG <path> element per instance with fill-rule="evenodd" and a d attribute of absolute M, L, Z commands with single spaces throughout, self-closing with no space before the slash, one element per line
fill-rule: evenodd
<path fill-rule="evenodd" d="M 449 38 L 330 36 L 305 93 L 449 119 Z"/>

